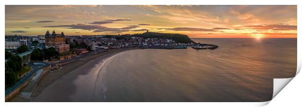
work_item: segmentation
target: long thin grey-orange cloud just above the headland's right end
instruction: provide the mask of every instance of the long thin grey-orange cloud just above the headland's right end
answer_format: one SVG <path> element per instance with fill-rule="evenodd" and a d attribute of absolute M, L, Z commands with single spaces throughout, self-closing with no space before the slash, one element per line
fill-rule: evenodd
<path fill-rule="evenodd" d="M 189 28 L 189 27 L 179 27 L 179 28 L 159 28 L 171 31 L 190 31 L 190 32 L 218 32 L 213 29 L 204 29 L 204 28 Z"/>

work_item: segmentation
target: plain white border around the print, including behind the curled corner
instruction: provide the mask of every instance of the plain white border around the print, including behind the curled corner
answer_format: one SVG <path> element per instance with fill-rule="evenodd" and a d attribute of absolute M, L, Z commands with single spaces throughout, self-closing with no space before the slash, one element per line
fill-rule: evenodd
<path fill-rule="evenodd" d="M 301 18 L 301 2 L 299 0 L 283 0 L 283 1 L 277 1 L 277 0 L 207 0 L 207 1 L 201 1 L 201 0 L 1 0 L 2 6 L 1 6 L 1 29 L 0 32 L 2 33 L 2 39 L 4 39 L 5 35 L 5 6 L 6 5 L 63 5 L 63 4 L 80 4 L 80 5 L 95 5 L 95 4 L 107 4 L 107 5 L 130 5 L 130 4 L 140 4 L 140 5 L 147 5 L 147 4 L 200 4 L 200 5 L 298 5 L 298 34 L 300 34 L 301 27 L 301 21 L 299 19 Z M 298 67 L 297 71 L 300 71 L 301 69 L 301 37 L 298 36 Z M 4 40 L 0 40 L 1 43 L 1 60 L 3 60 L 0 64 L 2 70 L 4 69 Z M 298 72 L 297 72 L 298 73 Z M 4 86 L 4 73 L 1 73 L 2 80 L 1 84 Z M 299 77 L 299 76 L 298 76 Z M 299 79 L 293 79 L 292 82 L 289 83 L 290 86 L 285 87 L 279 94 L 283 94 L 283 92 L 286 92 L 288 94 L 296 95 L 296 93 L 299 93 L 301 91 L 301 78 Z M 293 85 L 291 85 L 293 84 Z M 288 90 L 295 90 L 295 91 L 287 91 Z M 297 90 L 300 89 L 300 90 Z M 4 96 L 4 88 L 1 88 L 2 90 L 2 96 Z M 286 96 L 283 94 L 283 96 Z M 301 93 L 300 93 L 301 95 Z M 289 96 L 286 96 L 289 97 Z M 298 99 L 300 96 L 296 95 L 296 99 Z M 4 102 L 4 97 L 1 97 L 2 101 Z M 278 95 L 275 99 L 278 98 Z M 287 100 L 288 99 L 288 100 Z M 283 102 L 285 101 L 285 102 Z M 283 98 L 282 101 L 274 102 L 272 101 L 271 105 L 280 106 L 282 104 L 291 104 L 291 105 L 300 105 L 300 102 L 295 102 L 295 98 Z M 70 106 L 70 104 L 73 104 L 74 106 L 134 106 L 134 107 L 140 107 L 140 106 L 147 106 L 147 107 L 154 107 L 154 106 L 173 106 L 173 107 L 183 107 L 183 106 L 262 106 L 268 102 L 263 103 L 4 103 L 5 106 L 25 106 L 25 107 L 53 107 L 53 106 Z M 260 104 L 260 105 L 259 105 Z M 4 106 L 4 105 L 3 105 Z"/>

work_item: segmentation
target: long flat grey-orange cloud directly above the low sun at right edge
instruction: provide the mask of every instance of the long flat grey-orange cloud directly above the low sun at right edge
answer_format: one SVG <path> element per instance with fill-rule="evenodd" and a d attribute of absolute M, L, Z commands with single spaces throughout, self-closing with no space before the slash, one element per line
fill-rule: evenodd
<path fill-rule="evenodd" d="M 263 30 L 297 30 L 296 25 L 287 24 L 260 24 L 260 25 L 247 25 L 250 29 L 263 29 Z"/>

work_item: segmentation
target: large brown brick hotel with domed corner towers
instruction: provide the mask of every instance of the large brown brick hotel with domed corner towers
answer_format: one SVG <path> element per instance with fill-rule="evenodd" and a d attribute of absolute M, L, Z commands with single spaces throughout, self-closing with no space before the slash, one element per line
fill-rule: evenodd
<path fill-rule="evenodd" d="M 69 52 L 69 44 L 65 44 L 65 35 L 62 32 L 61 34 L 56 34 L 55 30 L 52 34 L 49 31 L 45 34 L 45 47 L 50 48 L 54 47 L 58 53 Z"/>

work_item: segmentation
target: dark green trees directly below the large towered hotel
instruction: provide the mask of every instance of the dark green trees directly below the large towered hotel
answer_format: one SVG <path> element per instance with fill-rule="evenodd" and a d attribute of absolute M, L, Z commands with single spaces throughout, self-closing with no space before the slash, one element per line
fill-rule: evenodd
<path fill-rule="evenodd" d="M 35 49 L 31 54 L 31 59 L 38 60 L 38 61 L 43 61 L 43 59 L 50 60 L 58 57 L 59 57 L 59 53 L 53 47 L 50 47 L 48 49 L 44 48 L 43 50 Z"/>

